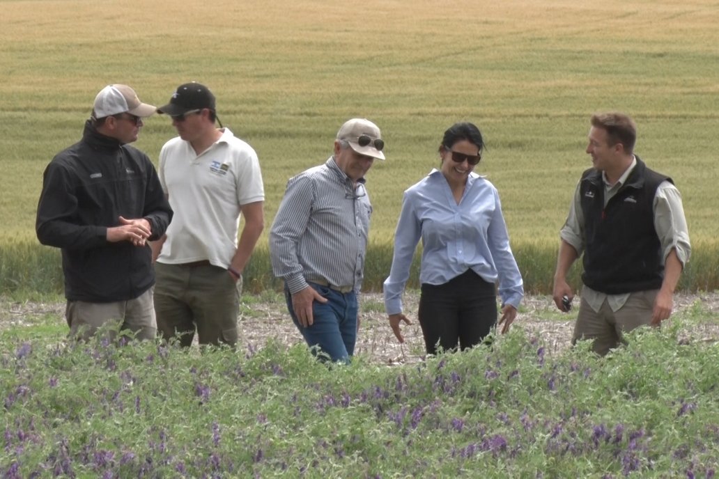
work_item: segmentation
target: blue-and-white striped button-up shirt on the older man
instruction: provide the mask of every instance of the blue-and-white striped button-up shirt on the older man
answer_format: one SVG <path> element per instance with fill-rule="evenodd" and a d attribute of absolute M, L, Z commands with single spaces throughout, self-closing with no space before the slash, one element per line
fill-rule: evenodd
<path fill-rule="evenodd" d="M 359 292 L 371 215 L 365 180 L 355 186 L 334 157 L 290 178 L 270 231 L 273 273 L 293 294 L 313 279 Z"/>

